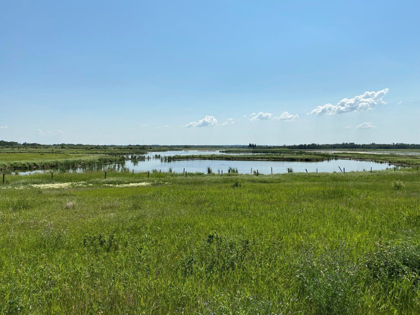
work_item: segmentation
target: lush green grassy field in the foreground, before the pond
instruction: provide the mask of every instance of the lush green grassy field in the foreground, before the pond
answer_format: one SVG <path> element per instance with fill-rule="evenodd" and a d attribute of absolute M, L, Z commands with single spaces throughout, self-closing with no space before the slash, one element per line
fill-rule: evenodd
<path fill-rule="evenodd" d="M 6 176 L 0 312 L 418 314 L 419 179 Z"/>

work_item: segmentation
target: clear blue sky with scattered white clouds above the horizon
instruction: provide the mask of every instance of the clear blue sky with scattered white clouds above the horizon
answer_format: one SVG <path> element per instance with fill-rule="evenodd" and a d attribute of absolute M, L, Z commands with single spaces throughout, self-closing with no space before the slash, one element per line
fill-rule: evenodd
<path fill-rule="evenodd" d="M 419 143 L 418 12 L 418 1 L 4 2 L 0 139 Z"/>

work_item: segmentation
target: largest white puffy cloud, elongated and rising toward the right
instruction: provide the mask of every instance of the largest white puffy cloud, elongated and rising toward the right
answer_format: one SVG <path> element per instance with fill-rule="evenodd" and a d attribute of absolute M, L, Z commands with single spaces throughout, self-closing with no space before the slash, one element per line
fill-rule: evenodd
<path fill-rule="evenodd" d="M 386 104 L 382 100 L 382 97 L 388 93 L 389 89 L 383 89 L 378 92 L 365 92 L 362 95 L 357 95 L 353 98 L 343 98 L 337 105 L 332 105 L 330 103 L 325 104 L 324 106 L 318 106 L 307 115 L 335 115 L 342 113 L 358 112 L 362 110 L 371 110 L 376 105 Z"/>

